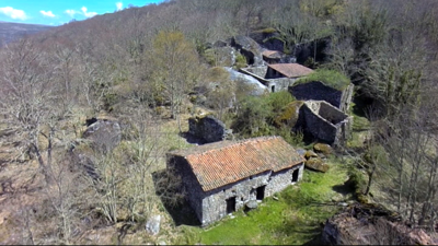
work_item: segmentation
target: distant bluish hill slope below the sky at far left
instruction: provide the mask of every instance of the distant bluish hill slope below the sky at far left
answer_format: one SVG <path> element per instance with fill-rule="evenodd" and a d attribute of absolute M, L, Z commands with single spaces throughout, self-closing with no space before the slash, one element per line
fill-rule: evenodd
<path fill-rule="evenodd" d="M 34 24 L 22 24 L 12 22 L 0 22 L 0 45 L 8 44 L 16 40 L 23 36 L 39 33 L 51 28 L 48 25 L 34 25 Z"/>

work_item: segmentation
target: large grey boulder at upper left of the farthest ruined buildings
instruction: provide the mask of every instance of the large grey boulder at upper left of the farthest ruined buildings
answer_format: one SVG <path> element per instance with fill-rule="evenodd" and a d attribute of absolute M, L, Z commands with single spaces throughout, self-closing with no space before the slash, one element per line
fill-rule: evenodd
<path fill-rule="evenodd" d="M 263 56 L 260 45 L 247 36 L 238 35 L 231 38 L 231 46 L 240 50 L 246 57 L 246 61 L 252 66 L 262 66 Z"/>

